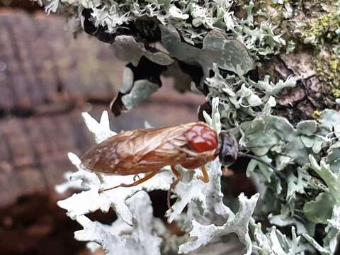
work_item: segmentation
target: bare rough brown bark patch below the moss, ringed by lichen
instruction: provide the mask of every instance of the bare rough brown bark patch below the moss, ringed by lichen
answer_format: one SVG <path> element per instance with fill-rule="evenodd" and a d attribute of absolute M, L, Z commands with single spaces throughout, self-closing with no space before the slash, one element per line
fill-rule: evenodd
<path fill-rule="evenodd" d="M 294 89 L 281 92 L 278 110 L 275 115 L 288 118 L 291 123 L 313 118 L 314 111 L 324 108 L 339 108 L 329 97 L 329 88 L 317 78 L 317 72 L 312 64 L 313 52 L 301 49 L 289 55 L 278 55 L 263 62 L 259 77 L 270 74 L 273 81 L 285 80 L 294 75 L 298 77 L 298 85 Z"/>

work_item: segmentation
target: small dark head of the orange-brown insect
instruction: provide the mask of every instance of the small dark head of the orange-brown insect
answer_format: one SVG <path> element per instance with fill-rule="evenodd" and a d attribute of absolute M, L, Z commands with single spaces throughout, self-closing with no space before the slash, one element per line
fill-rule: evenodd
<path fill-rule="evenodd" d="M 239 145 L 234 135 L 222 131 L 218 135 L 218 157 L 224 166 L 234 164 L 239 152 Z"/>

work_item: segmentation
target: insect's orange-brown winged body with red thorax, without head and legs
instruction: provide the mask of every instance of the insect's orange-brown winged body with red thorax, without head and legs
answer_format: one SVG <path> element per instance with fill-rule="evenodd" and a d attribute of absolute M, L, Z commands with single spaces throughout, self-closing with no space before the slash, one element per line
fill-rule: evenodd
<path fill-rule="evenodd" d="M 196 169 L 217 155 L 215 130 L 198 122 L 121 132 L 90 149 L 81 162 L 92 171 L 130 175 L 174 164 Z"/>

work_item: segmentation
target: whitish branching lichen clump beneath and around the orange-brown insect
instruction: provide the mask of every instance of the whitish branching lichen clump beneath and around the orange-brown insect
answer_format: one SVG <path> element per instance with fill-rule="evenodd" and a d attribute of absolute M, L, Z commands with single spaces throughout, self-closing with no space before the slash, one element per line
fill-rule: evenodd
<path fill-rule="evenodd" d="M 206 118 L 208 118 L 208 123 L 219 132 L 218 98 L 213 99 L 212 106 L 212 118 L 208 115 L 206 115 Z M 89 130 L 94 134 L 96 142 L 101 142 L 115 135 L 115 132 L 109 128 L 106 112 L 103 112 L 100 123 L 97 123 L 87 113 L 84 113 L 83 117 Z M 67 188 L 84 190 L 58 202 L 61 208 L 67 210 L 69 217 L 77 220 L 84 227 L 83 230 L 75 232 L 76 239 L 100 244 L 107 254 L 116 254 L 116 252 L 123 250 L 126 250 L 126 254 L 159 254 L 159 245 L 162 239 L 157 234 L 154 235 L 156 232 L 152 231 L 154 219 L 149 197 L 145 191 L 169 190 L 171 183 L 174 181 L 174 176 L 170 169 L 162 169 L 152 179 L 138 186 L 131 188 L 120 187 L 98 193 L 101 186 L 111 187 L 120 183 L 129 183 L 132 182 L 133 176 L 95 174 L 84 169 L 80 159 L 75 154 L 70 153 L 69 159 L 77 167 L 78 171 L 73 174 L 67 173 L 65 176 L 69 180 L 57 186 L 56 189 L 59 192 L 64 192 Z M 252 249 L 248 225 L 259 195 L 248 199 L 241 194 L 239 196 L 239 211 L 235 214 L 222 202 L 223 194 L 221 193 L 220 184 L 222 171 L 218 159 L 208 164 L 209 183 L 204 183 L 197 179 L 200 171 L 195 174 L 191 174 L 191 171 L 183 168 L 180 168 L 179 171 L 181 171 L 183 177 L 182 181 L 174 189 L 176 202 L 166 212 L 166 216 L 169 222 L 172 222 L 177 217 L 185 215 L 186 221 L 189 222 L 187 229 L 191 229 L 190 236 L 196 237 L 195 241 L 188 241 L 179 246 L 179 252 L 187 253 L 209 244 L 212 239 L 236 233 L 239 241 L 243 242 L 247 247 L 246 254 L 250 254 Z M 197 210 L 198 215 L 183 212 L 187 206 L 192 208 L 191 211 Z M 89 217 L 86 217 L 86 214 L 96 210 L 108 212 L 110 208 L 113 208 L 118 215 L 118 223 L 114 222 L 112 226 L 92 222 Z M 212 219 L 217 217 L 222 219 L 222 225 L 213 224 L 214 220 Z M 212 223 L 212 225 L 206 225 L 207 222 Z M 131 234 L 120 237 L 117 225 L 120 227 L 125 225 L 130 229 Z M 166 243 L 165 239 L 162 241 Z M 91 244 L 90 246 L 93 247 L 94 245 Z"/>

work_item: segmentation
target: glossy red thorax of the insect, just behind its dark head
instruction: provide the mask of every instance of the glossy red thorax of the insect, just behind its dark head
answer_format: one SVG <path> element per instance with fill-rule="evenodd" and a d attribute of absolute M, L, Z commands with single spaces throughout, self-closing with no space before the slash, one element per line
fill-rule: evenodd
<path fill-rule="evenodd" d="M 217 147 L 217 135 L 208 126 L 197 124 L 185 134 L 188 143 L 197 152 L 205 152 Z"/>

